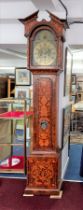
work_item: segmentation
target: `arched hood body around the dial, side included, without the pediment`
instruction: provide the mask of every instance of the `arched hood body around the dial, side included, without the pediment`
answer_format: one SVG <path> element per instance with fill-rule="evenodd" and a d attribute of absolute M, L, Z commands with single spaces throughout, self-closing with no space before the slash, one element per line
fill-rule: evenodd
<path fill-rule="evenodd" d="M 62 52 L 61 36 L 52 26 L 40 24 L 29 34 L 29 69 L 62 69 Z"/>

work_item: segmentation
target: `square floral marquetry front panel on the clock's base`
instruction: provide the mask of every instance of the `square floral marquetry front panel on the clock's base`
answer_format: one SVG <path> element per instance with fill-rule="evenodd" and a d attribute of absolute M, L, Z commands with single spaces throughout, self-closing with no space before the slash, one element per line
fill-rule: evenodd
<path fill-rule="evenodd" d="M 28 158 L 29 188 L 57 189 L 58 187 L 58 156 Z"/>

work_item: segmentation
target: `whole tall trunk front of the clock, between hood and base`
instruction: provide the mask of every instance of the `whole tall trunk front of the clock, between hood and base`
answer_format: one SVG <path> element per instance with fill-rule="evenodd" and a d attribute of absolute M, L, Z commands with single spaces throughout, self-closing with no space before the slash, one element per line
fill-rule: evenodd
<path fill-rule="evenodd" d="M 36 76 L 34 85 L 33 149 L 55 150 L 57 146 L 56 76 Z"/>

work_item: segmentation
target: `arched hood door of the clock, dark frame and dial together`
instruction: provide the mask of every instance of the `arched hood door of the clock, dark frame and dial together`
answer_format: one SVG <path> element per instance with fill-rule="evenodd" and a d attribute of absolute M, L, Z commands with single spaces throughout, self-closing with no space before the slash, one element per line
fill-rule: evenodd
<path fill-rule="evenodd" d="M 37 28 L 30 37 L 30 66 L 55 66 L 57 47 L 57 37 L 53 30 L 46 26 Z"/>

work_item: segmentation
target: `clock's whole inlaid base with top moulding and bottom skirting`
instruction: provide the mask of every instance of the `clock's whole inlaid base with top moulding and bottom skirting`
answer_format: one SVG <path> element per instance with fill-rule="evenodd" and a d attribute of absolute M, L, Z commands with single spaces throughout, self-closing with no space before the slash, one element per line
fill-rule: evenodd
<path fill-rule="evenodd" d="M 58 194 L 61 182 L 57 168 L 60 154 L 30 155 L 27 159 L 29 177 L 24 194 Z"/>

